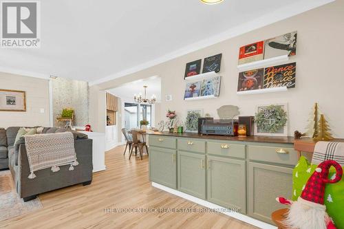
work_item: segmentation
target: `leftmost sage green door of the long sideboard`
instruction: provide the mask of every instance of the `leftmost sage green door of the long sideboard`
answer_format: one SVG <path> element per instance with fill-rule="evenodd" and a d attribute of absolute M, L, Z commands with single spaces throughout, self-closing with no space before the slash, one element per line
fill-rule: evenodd
<path fill-rule="evenodd" d="M 149 178 L 152 182 L 177 189 L 177 151 L 149 147 Z"/>

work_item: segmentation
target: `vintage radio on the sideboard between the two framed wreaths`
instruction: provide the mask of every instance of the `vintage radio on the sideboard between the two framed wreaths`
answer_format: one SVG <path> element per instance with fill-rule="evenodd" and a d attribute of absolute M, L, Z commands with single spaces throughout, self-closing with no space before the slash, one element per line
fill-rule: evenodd
<path fill-rule="evenodd" d="M 202 134 L 236 136 L 238 125 L 235 119 L 204 120 Z"/>

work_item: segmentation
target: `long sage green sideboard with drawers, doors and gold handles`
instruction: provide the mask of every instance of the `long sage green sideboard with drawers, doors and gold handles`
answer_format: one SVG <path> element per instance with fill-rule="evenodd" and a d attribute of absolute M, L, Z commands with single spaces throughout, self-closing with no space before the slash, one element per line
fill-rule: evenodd
<path fill-rule="evenodd" d="M 273 224 L 271 213 L 283 208 L 276 197 L 292 197 L 292 168 L 298 160 L 293 141 L 155 133 L 149 135 L 149 177 Z"/>

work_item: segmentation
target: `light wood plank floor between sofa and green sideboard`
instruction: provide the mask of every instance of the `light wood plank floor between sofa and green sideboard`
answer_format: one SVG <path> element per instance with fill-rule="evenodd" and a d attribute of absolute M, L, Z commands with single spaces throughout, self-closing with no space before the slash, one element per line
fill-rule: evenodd
<path fill-rule="evenodd" d="M 153 188 L 148 157 L 123 157 L 123 146 L 106 153 L 107 170 L 89 186 L 39 195 L 43 209 L 0 222 L 0 228 L 255 228 L 216 212 L 105 212 L 105 208 L 202 208 Z M 1 207 L 1 206 L 0 206 Z"/>

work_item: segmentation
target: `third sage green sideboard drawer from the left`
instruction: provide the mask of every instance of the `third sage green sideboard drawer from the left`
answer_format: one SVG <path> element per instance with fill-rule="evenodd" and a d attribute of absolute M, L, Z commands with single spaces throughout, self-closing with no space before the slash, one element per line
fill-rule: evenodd
<path fill-rule="evenodd" d="M 246 145 L 228 142 L 207 142 L 207 153 L 244 159 L 246 158 Z"/>

